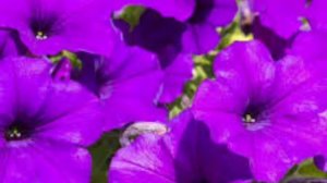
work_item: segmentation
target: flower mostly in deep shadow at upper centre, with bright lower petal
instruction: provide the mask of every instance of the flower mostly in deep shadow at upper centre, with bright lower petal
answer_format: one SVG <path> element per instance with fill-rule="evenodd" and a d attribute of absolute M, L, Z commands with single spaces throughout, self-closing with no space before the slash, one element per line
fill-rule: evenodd
<path fill-rule="evenodd" d="M 192 54 L 183 51 L 181 45 L 186 26 L 174 19 L 162 17 L 153 10 L 144 12 L 133 32 L 130 32 L 131 27 L 123 21 L 117 20 L 114 23 L 122 30 L 128 45 L 140 46 L 158 56 L 165 72 L 159 101 L 172 102 L 181 96 L 183 86 L 192 78 L 193 69 Z"/>

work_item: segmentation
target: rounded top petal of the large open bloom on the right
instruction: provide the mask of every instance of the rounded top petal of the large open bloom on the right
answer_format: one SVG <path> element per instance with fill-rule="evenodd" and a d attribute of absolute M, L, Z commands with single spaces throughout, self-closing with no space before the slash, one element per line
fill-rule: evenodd
<path fill-rule="evenodd" d="M 217 88 L 228 89 L 226 94 L 230 95 L 231 100 L 239 98 L 233 102 L 246 102 L 254 96 L 266 98 L 270 95 L 268 91 L 271 90 L 275 78 L 274 60 L 261 41 L 235 42 L 230 46 L 216 58 L 214 72 L 217 81 L 221 83 Z M 223 106 L 221 108 L 225 108 Z"/>

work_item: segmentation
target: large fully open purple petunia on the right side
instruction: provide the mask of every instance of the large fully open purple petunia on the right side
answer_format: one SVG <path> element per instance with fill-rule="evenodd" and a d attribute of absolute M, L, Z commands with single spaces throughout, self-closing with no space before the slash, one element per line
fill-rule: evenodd
<path fill-rule="evenodd" d="M 277 182 L 326 152 L 324 68 L 291 54 L 274 62 L 258 41 L 237 42 L 218 54 L 217 80 L 201 85 L 194 115 L 216 142 L 251 159 L 257 180 Z"/>

